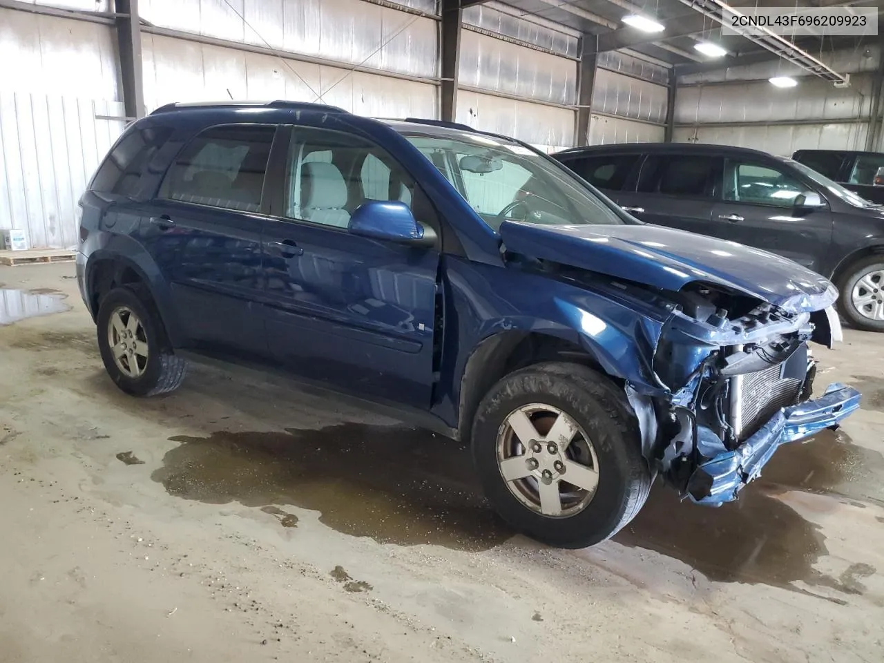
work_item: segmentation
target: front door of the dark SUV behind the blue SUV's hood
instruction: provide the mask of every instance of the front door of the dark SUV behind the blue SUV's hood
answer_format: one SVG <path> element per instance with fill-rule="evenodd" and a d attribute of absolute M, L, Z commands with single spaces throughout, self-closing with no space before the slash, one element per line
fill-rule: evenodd
<path fill-rule="evenodd" d="M 828 262 L 832 214 L 828 207 L 795 207 L 796 196 L 809 190 L 809 183 L 783 164 L 729 158 L 722 200 L 713 208 L 716 234 L 819 271 Z"/>

